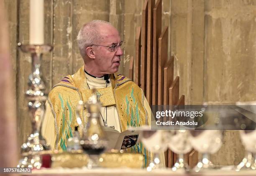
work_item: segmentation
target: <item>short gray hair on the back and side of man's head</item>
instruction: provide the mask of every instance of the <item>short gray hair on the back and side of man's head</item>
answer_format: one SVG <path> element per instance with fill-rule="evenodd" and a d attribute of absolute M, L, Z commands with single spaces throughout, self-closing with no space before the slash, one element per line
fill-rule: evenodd
<path fill-rule="evenodd" d="M 100 24 L 102 23 L 107 23 L 110 24 L 107 21 L 103 20 L 92 20 L 89 23 L 86 23 L 82 26 L 82 28 L 79 30 L 79 33 L 77 35 L 77 45 L 80 51 L 80 54 L 82 58 L 84 59 L 86 56 L 86 51 L 85 49 L 88 46 L 91 46 L 92 44 L 95 44 L 95 41 L 100 40 L 100 33 L 97 30 Z M 112 26 L 112 25 L 111 25 Z"/>

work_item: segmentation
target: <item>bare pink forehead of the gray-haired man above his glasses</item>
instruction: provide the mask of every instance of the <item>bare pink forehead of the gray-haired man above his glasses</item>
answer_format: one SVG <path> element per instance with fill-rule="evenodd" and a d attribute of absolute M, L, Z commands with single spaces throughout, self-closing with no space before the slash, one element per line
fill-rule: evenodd
<path fill-rule="evenodd" d="M 102 24 L 99 26 L 100 39 L 104 43 L 119 43 L 120 36 L 116 28 L 109 24 Z"/>

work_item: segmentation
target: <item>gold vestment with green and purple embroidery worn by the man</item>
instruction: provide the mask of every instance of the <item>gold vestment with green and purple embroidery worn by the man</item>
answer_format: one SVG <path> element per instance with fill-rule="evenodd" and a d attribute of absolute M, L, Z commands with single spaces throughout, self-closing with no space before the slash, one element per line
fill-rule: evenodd
<path fill-rule="evenodd" d="M 151 110 L 145 99 L 143 91 L 131 79 L 121 74 L 111 74 L 111 86 L 97 89 L 102 106 L 115 106 L 121 131 L 125 131 L 129 126 L 139 127 L 151 125 Z M 56 84 L 48 97 L 48 104 L 51 107 L 51 115 L 54 118 L 54 146 L 55 150 L 66 150 L 67 139 L 72 137 L 72 131 L 78 126 L 75 117 L 76 105 L 79 100 L 87 101 L 90 97 L 91 89 L 87 84 L 87 79 L 82 66 L 74 75 L 64 77 Z M 84 110 L 80 112 L 83 125 L 87 123 Z M 46 120 L 49 123 L 49 119 Z M 47 122 L 46 122 L 47 123 Z M 47 126 L 43 125 L 43 135 L 47 133 Z M 82 129 L 79 129 L 82 134 Z M 48 135 L 49 136 L 49 135 Z M 52 135 L 53 136 L 53 135 Z M 45 136 L 47 140 L 47 135 Z M 142 143 L 129 148 L 130 151 L 142 153 L 145 158 L 145 166 L 150 161 L 150 152 L 147 151 Z"/>

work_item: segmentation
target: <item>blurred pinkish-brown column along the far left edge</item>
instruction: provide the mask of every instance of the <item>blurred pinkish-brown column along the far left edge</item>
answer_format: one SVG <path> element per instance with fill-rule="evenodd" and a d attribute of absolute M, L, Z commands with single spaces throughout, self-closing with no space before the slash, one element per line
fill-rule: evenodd
<path fill-rule="evenodd" d="M 10 57 L 8 18 L 4 1 L 0 1 L 0 166 L 17 166 L 17 126 L 13 68 Z M 13 174 L 7 174 L 13 175 Z"/>

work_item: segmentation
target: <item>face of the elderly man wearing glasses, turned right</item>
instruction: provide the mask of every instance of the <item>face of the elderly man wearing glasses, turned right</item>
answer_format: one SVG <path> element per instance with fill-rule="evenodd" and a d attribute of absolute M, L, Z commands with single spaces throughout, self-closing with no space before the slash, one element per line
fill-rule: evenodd
<path fill-rule="evenodd" d="M 101 35 L 101 40 L 94 44 L 102 46 L 93 46 L 95 52 L 95 64 L 97 64 L 101 74 L 113 74 L 118 71 L 121 60 L 120 57 L 123 56 L 123 51 L 118 47 L 116 51 L 112 52 L 111 48 L 104 46 L 119 45 L 119 33 L 113 26 L 108 24 L 100 25 L 98 31 Z"/>

